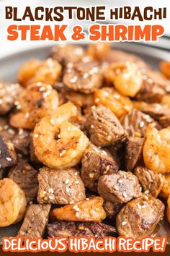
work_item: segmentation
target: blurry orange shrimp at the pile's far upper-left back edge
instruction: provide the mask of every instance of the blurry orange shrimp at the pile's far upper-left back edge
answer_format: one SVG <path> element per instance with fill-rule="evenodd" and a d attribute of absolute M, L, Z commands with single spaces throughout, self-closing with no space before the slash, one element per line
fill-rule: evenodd
<path fill-rule="evenodd" d="M 21 85 L 27 86 L 27 81 L 34 76 L 36 70 L 40 67 L 41 61 L 38 59 L 30 59 L 25 62 L 18 71 L 18 82 Z"/>

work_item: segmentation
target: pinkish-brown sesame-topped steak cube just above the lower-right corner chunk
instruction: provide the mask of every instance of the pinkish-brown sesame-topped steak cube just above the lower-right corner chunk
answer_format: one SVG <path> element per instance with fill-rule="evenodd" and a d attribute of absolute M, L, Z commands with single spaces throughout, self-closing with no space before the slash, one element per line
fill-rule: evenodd
<path fill-rule="evenodd" d="M 138 178 L 130 171 L 101 176 L 97 189 L 99 195 L 109 202 L 128 202 L 141 195 Z"/>

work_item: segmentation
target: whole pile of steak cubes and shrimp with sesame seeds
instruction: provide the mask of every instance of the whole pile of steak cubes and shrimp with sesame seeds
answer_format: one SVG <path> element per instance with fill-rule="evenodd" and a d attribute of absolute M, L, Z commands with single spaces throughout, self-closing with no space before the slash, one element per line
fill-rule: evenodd
<path fill-rule="evenodd" d="M 18 236 L 152 235 L 170 221 L 170 62 L 55 46 L 0 84 L 0 226 Z"/>

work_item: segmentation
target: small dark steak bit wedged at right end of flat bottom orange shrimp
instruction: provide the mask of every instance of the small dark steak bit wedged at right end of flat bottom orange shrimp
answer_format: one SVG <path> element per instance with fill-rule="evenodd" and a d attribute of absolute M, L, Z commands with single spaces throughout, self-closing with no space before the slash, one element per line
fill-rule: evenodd
<path fill-rule="evenodd" d="M 123 204 L 119 202 L 104 201 L 103 208 L 107 213 L 107 218 L 109 218 L 109 220 L 115 220 L 122 206 Z"/>

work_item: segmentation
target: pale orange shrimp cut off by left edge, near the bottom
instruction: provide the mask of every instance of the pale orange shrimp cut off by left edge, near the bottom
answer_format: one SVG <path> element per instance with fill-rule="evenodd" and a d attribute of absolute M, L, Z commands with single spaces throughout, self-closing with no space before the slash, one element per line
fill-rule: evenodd
<path fill-rule="evenodd" d="M 27 207 L 24 191 L 12 179 L 0 181 L 0 226 L 22 220 Z"/>

